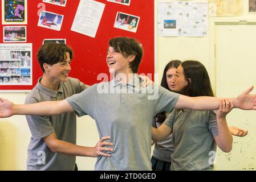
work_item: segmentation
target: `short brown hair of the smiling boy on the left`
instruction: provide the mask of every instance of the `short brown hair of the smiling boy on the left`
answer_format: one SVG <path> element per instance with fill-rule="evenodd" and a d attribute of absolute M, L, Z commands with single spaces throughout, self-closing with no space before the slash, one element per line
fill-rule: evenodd
<path fill-rule="evenodd" d="M 70 53 L 70 60 L 72 60 L 73 51 L 66 44 L 63 44 L 63 43 L 58 44 L 54 42 L 43 44 L 39 48 L 38 54 L 37 54 L 37 59 L 43 73 L 45 72 L 43 68 L 44 63 L 53 65 L 63 60 L 66 60 L 67 59 L 66 52 Z"/>

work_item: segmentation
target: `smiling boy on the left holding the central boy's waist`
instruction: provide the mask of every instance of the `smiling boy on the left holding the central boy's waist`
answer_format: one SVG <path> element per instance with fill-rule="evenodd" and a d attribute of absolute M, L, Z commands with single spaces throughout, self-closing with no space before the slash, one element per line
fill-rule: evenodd
<path fill-rule="evenodd" d="M 68 77 L 73 57 L 72 49 L 66 44 L 46 43 L 38 51 L 38 61 L 43 76 L 26 97 L 26 104 L 42 101 L 61 101 L 88 88 L 76 78 Z M 109 156 L 102 151 L 111 143 L 103 137 L 95 147 L 76 145 L 75 112 L 58 115 L 26 115 L 32 137 L 27 150 L 27 170 L 77 169 L 76 156 Z"/>

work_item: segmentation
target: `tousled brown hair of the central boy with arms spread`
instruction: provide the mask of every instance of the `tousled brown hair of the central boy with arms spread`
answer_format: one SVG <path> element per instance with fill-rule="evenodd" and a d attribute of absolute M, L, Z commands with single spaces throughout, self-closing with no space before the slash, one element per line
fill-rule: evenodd
<path fill-rule="evenodd" d="M 143 57 L 143 48 L 141 43 L 137 42 L 134 38 L 119 37 L 109 40 L 109 46 L 115 48 L 117 52 L 120 52 L 124 57 L 135 55 L 135 59 L 129 64 L 133 73 L 137 73 L 139 69 L 140 61 Z"/>

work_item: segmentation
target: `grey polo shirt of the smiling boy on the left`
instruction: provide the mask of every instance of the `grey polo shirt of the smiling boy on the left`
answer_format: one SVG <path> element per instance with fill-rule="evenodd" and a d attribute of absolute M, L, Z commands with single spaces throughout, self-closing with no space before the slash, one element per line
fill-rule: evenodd
<path fill-rule="evenodd" d="M 25 104 L 42 101 L 64 100 L 87 88 L 78 79 L 68 78 L 60 82 L 58 92 L 38 84 L 27 95 Z M 76 114 L 64 113 L 52 116 L 26 115 L 32 137 L 27 149 L 27 170 L 74 170 L 75 156 L 52 152 L 43 138 L 52 133 L 60 140 L 76 143 Z"/>

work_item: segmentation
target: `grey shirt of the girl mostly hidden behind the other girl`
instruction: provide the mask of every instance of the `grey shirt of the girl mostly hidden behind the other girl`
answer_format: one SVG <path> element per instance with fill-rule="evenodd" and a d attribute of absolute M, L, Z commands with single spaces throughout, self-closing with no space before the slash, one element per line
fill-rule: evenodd
<path fill-rule="evenodd" d="M 168 118 L 169 114 L 170 114 L 169 112 L 165 113 L 166 118 Z M 161 123 L 157 122 L 156 118 L 154 118 L 152 121 L 152 127 L 155 127 L 157 129 L 160 126 L 161 126 Z M 162 161 L 171 162 L 170 155 L 173 153 L 173 151 L 174 151 L 174 146 L 172 142 L 172 134 L 170 134 L 165 139 L 155 143 L 153 156 Z"/>

